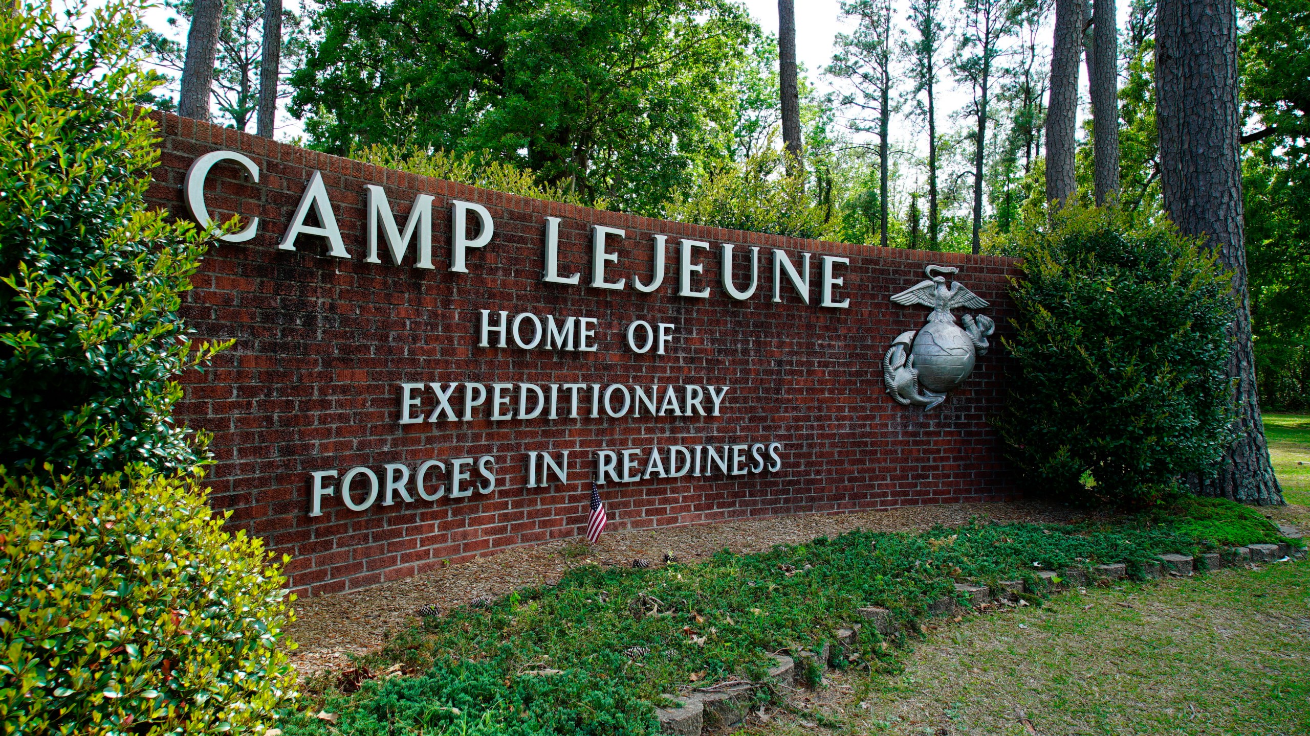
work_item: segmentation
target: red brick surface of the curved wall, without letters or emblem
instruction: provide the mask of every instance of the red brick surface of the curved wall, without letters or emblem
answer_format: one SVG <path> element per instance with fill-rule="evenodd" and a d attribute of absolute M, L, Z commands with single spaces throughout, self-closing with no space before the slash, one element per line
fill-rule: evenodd
<path fill-rule="evenodd" d="M 515 545 L 572 537 L 587 520 L 593 453 L 601 448 L 673 444 L 783 443 L 777 473 L 710 478 L 651 478 L 608 483 L 609 529 L 698 524 L 785 513 L 844 512 L 922 503 L 998 499 L 1013 494 L 986 419 L 1003 397 L 998 347 L 945 405 L 925 413 L 896 405 L 883 388 L 880 360 L 891 340 L 924 325 L 927 310 L 888 296 L 924 278 L 926 263 L 958 266 L 955 279 L 992 303 L 985 312 L 1007 331 L 1010 261 L 807 241 L 651 220 L 379 169 L 271 143 L 232 130 L 160 118 L 162 165 L 152 203 L 187 216 L 182 178 L 195 156 L 234 149 L 259 166 L 258 185 L 231 164 L 214 168 L 206 187 L 215 213 L 261 217 L 259 234 L 221 244 L 194 278 L 183 314 L 204 339 L 234 338 L 203 375 L 186 378 L 178 416 L 214 432 L 214 504 L 232 524 L 292 555 L 288 572 L 301 593 L 359 588 L 421 572 L 443 559 L 468 559 Z M 301 237 L 296 251 L 276 244 L 308 179 L 322 172 L 351 259 L 328 258 L 321 238 Z M 434 265 L 418 270 L 364 263 L 364 185 L 383 185 L 403 225 L 415 193 L 434 195 Z M 490 245 L 470 251 L 469 274 L 448 271 L 451 199 L 485 204 L 495 221 Z M 545 217 L 562 219 L 561 272 L 583 285 L 541 283 Z M 622 228 L 610 278 L 626 291 L 588 288 L 591 227 Z M 651 236 L 668 236 L 664 285 L 650 279 Z M 676 296 L 677 242 L 698 250 L 710 299 Z M 722 242 L 761 246 L 760 288 L 747 301 L 718 285 Z M 772 297 L 769 249 L 799 259 L 815 253 L 811 305 L 790 285 Z M 736 249 L 739 253 L 747 250 Z M 849 309 L 817 305 L 819 255 L 850 258 L 838 296 Z M 736 262 L 745 283 L 744 255 Z M 783 279 L 785 280 L 785 279 Z M 478 348 L 479 309 L 595 317 L 596 352 Z M 669 354 L 635 355 L 624 329 L 633 320 L 675 323 Z M 400 424 L 402 381 L 531 381 L 587 384 L 730 385 L 722 416 L 608 416 Z M 663 390 L 663 389 L 662 389 Z M 458 396 L 458 392 L 456 393 Z M 424 396 L 423 407 L 434 402 Z M 483 407 L 485 409 L 485 407 Z M 525 488 L 527 451 L 570 452 L 567 485 Z M 363 465 L 477 457 L 496 458 L 490 495 L 397 502 L 352 512 L 337 496 L 309 517 L 310 473 Z M 645 465 L 645 453 L 642 454 Z M 477 470 L 473 471 L 478 481 Z M 328 481 L 333 483 L 333 481 Z M 335 481 L 339 483 L 339 478 Z M 356 483 L 356 499 L 359 488 Z"/>

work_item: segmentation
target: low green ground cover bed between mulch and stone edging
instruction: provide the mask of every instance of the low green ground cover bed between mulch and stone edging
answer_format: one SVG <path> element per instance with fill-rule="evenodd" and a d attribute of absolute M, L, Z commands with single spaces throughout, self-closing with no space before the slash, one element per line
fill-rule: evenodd
<path fill-rule="evenodd" d="M 1191 519 L 1207 516 L 1199 528 Z M 1193 524 L 1193 526 L 1184 526 Z M 1186 529 L 1186 530 L 1184 530 Z M 652 702 L 689 684 L 758 680 L 769 652 L 798 652 L 882 605 L 914 631 L 952 584 L 1125 562 L 1165 551 L 1281 540 L 1251 508 L 1192 499 L 1172 509 L 1082 525 L 982 524 L 924 533 L 852 532 L 751 555 L 642 570 L 584 564 L 557 585 L 478 601 L 402 631 L 320 693 L 291 735 L 651 733 Z M 895 672 L 871 630 L 845 667 Z M 396 674 L 388 677 L 388 674 Z M 811 681 L 817 673 L 802 672 Z M 381 676 L 381 677 L 373 677 Z M 761 695 L 762 697 L 762 695 Z"/>

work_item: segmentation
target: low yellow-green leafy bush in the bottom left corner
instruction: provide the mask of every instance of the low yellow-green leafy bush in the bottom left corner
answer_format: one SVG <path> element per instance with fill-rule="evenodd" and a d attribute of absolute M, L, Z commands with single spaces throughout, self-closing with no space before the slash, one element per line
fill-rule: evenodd
<path fill-rule="evenodd" d="M 0 468 L 5 733 L 262 733 L 292 694 L 263 543 L 195 477 L 43 482 Z"/>

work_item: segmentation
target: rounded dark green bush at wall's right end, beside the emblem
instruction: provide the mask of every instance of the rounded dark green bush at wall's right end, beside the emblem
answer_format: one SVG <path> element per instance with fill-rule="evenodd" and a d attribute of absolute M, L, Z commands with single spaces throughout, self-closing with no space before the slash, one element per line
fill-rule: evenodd
<path fill-rule="evenodd" d="M 997 427 L 1024 483 L 1148 503 L 1213 471 L 1229 441 L 1227 275 L 1167 225 L 1066 208 L 1015 236 L 1017 360 Z"/>

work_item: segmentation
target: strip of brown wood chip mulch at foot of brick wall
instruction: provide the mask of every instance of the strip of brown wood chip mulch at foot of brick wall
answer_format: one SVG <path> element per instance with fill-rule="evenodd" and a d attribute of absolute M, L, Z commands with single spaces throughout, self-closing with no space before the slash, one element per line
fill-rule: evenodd
<path fill-rule="evenodd" d="M 462 564 L 440 567 L 381 585 L 334 593 L 295 602 L 297 621 L 287 627 L 299 644 L 291 661 L 301 676 L 328 669 L 346 669 L 351 655 L 362 655 L 385 642 L 388 631 L 413 625 L 418 609 L 438 606 L 443 613 L 477 598 L 495 598 L 528 585 L 554 584 L 570 564 L 618 564 L 633 561 L 651 566 L 671 554 L 679 562 L 697 562 L 730 549 L 757 553 L 778 543 L 799 543 L 815 537 L 833 537 L 852 529 L 910 532 L 938 524 L 959 525 L 971 519 L 1002 523 L 1069 523 L 1086 517 L 1085 511 L 1038 502 L 903 506 L 841 515 L 800 515 L 727 521 L 672 529 L 612 532 L 566 561 L 566 545 L 582 537 L 517 547 Z M 574 550 L 579 547 L 574 546 Z"/>

